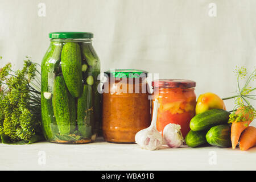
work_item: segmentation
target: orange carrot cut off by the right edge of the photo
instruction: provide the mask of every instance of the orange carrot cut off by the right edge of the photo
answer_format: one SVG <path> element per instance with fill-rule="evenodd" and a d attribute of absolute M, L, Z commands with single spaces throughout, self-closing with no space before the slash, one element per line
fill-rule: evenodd
<path fill-rule="evenodd" d="M 240 137 L 239 147 L 240 150 L 245 151 L 249 148 L 255 146 L 256 144 L 256 128 L 253 126 L 247 127 L 245 131 L 243 131 Z"/>

